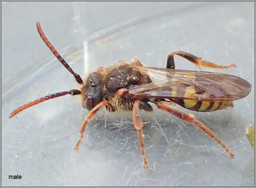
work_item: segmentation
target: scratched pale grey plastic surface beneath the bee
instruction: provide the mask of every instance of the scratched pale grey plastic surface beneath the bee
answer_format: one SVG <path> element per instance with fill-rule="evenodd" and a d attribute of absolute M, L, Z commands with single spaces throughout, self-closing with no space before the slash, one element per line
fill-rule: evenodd
<path fill-rule="evenodd" d="M 254 126 L 254 2 L 2 3 L 1 185 L 2 186 L 255 186 L 255 155 L 246 130 Z M 22 10 L 22 11 L 21 11 Z M 146 156 L 131 116 L 102 110 L 88 123 L 79 151 L 73 147 L 87 111 L 76 97 L 9 113 L 36 98 L 74 89 L 72 75 L 39 37 L 43 31 L 81 76 L 99 66 L 139 56 L 146 66 L 165 67 L 167 54 L 182 50 L 230 69 L 251 93 L 234 108 L 194 114 L 235 154 L 193 125 L 155 108 L 142 112 Z M 176 68 L 195 66 L 175 57 Z M 86 69 L 86 71 L 85 71 Z M 21 180 L 9 180 L 9 175 Z"/>

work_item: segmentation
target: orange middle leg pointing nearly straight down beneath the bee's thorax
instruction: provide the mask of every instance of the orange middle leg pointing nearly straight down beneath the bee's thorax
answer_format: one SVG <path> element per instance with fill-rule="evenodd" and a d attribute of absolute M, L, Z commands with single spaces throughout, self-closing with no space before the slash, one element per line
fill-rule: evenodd
<path fill-rule="evenodd" d="M 145 155 L 145 145 L 144 145 L 143 130 L 142 130 L 143 123 L 142 123 L 142 121 L 140 119 L 140 115 L 139 115 L 139 104 L 140 104 L 139 100 L 136 100 L 133 104 L 132 121 L 133 121 L 133 125 L 134 125 L 134 127 L 135 127 L 135 129 L 137 130 L 137 133 L 138 133 L 142 158 L 144 160 L 144 168 L 147 168 L 148 167 L 148 160 L 147 160 L 146 155 Z"/>

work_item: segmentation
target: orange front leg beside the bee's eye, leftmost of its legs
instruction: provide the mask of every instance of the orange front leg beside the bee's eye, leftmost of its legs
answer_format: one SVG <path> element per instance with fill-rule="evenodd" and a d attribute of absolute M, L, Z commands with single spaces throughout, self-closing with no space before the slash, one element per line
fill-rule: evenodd
<path fill-rule="evenodd" d="M 83 125 L 81 127 L 81 130 L 80 130 L 80 139 L 78 140 L 76 146 L 75 146 L 75 150 L 78 149 L 78 146 L 79 144 L 81 143 L 82 139 L 83 139 L 83 132 L 84 132 L 84 129 L 85 129 L 85 126 L 87 125 L 88 121 L 90 121 L 91 119 L 94 118 L 94 116 L 97 114 L 97 112 L 103 107 L 103 106 L 109 106 L 110 104 L 107 102 L 107 101 L 102 101 L 100 103 L 98 103 L 96 106 L 93 107 L 93 109 L 91 109 L 91 111 L 87 114 L 84 122 L 83 122 Z"/>

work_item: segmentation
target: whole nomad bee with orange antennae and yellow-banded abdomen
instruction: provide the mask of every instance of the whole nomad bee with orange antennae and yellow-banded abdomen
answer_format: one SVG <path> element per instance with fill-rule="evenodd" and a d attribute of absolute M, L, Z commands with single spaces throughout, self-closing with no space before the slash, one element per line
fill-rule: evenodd
<path fill-rule="evenodd" d="M 80 139 L 74 148 L 78 149 L 85 126 L 101 108 L 105 107 L 109 112 L 131 111 L 142 149 L 144 167 L 148 167 L 142 130 L 143 122 L 140 119 L 139 111 L 140 109 L 147 112 L 153 111 L 151 102 L 158 108 L 199 127 L 233 158 L 234 154 L 206 125 L 196 120 L 192 114 L 175 108 L 174 104 L 198 112 L 221 110 L 232 107 L 233 100 L 247 96 L 251 91 L 251 84 L 240 77 L 229 74 L 174 69 L 174 55 L 179 55 L 199 67 L 228 68 L 235 66 L 234 64 L 220 66 L 202 61 L 200 57 L 186 52 L 174 51 L 168 55 L 166 68 L 144 67 L 135 57 L 131 60 L 131 64 L 120 61 L 118 65 L 110 68 L 100 67 L 86 78 L 81 79 L 80 75 L 70 68 L 46 38 L 39 22 L 36 23 L 36 27 L 51 52 L 73 74 L 79 88 L 50 94 L 31 101 L 15 109 L 9 118 L 45 100 L 67 94 L 79 95 L 81 105 L 88 109 L 89 113 L 85 117 L 80 131 Z"/>

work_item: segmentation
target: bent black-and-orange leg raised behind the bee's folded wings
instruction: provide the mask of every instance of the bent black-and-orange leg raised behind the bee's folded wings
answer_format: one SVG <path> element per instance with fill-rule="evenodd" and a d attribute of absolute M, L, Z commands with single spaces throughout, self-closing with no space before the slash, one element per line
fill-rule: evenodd
<path fill-rule="evenodd" d="M 211 63 L 211 62 L 208 62 L 208 61 L 202 61 L 201 57 L 194 56 L 193 54 L 189 54 L 187 52 L 173 51 L 173 52 L 168 54 L 166 68 L 174 68 L 175 67 L 174 66 L 174 59 L 173 59 L 174 54 L 178 55 L 178 56 L 181 56 L 181 57 L 187 59 L 188 61 L 191 61 L 192 63 L 194 63 L 199 68 L 200 68 L 200 66 L 209 67 L 209 68 L 235 67 L 235 64 L 233 64 L 233 63 L 230 64 L 230 65 L 227 65 L 227 66 L 216 65 L 215 63 Z M 201 70 L 201 68 L 200 68 L 200 70 Z"/>

